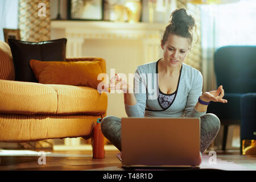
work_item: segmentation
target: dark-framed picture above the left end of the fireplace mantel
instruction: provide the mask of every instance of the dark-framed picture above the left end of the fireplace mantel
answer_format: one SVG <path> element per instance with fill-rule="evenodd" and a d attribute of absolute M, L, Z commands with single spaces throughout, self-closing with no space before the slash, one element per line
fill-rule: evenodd
<path fill-rule="evenodd" d="M 68 19 L 102 20 L 103 0 L 68 0 Z"/>

